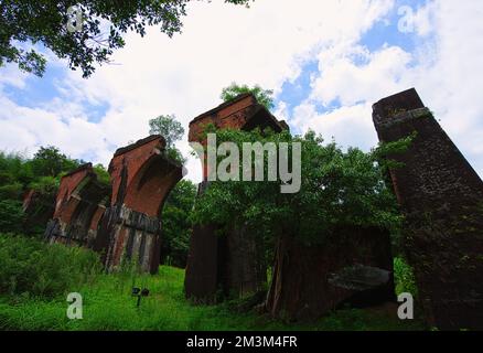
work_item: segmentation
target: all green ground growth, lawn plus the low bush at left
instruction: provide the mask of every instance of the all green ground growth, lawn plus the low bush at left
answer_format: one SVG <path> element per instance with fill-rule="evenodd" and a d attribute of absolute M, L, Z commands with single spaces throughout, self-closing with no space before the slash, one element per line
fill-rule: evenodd
<path fill-rule="evenodd" d="M 10 243 L 10 244 L 8 244 Z M 20 253 L 15 253 L 19 250 Z M 283 323 L 256 312 L 239 312 L 235 302 L 194 306 L 184 298 L 184 270 L 161 266 L 155 276 L 140 275 L 127 264 L 121 271 L 98 271 L 96 255 L 62 245 L 47 246 L 29 238 L 0 236 L 0 271 L 15 278 L 17 285 L 0 296 L 0 330 L 420 330 L 419 321 L 399 321 L 396 313 L 346 309 L 316 322 Z M 40 256 L 50 259 L 40 259 Z M 3 259 L 9 257 L 10 260 Z M 18 261 L 19 271 L 13 268 Z M 10 264 L 12 261 L 12 264 Z M 36 264 L 36 265 L 35 265 Z M 34 269 L 33 267 L 39 267 Z M 60 268 L 62 267 L 62 268 Z M 80 270 L 79 270 L 80 269 Z M 29 271 L 33 270 L 33 274 Z M 86 271 L 86 274 L 83 274 Z M 74 277 L 67 276 L 68 274 Z M 28 276 L 22 279 L 22 276 Z M 52 276 L 50 279 L 44 277 Z M 46 280 L 49 286 L 34 285 Z M 9 284 L 9 281 L 7 281 Z M 148 288 L 141 299 L 132 287 Z M 83 297 L 83 319 L 66 315 L 66 293 Z M 23 293 L 23 295 L 22 295 Z"/>

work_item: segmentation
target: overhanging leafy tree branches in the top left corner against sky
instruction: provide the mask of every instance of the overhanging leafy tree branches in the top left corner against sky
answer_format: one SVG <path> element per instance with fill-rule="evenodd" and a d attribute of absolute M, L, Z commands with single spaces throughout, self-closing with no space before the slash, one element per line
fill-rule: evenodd
<path fill-rule="evenodd" d="M 73 69 L 80 68 L 84 77 L 95 63 L 109 63 L 112 52 L 125 45 L 122 33 L 136 31 L 141 36 L 148 25 L 172 36 L 181 32 L 182 17 L 190 0 L 2 0 L 0 1 L 0 66 L 13 62 L 25 72 L 42 76 L 45 57 L 34 49 L 25 50 L 22 42 L 42 44 L 56 56 L 67 58 Z M 225 0 L 248 4 L 250 0 Z M 82 13 L 82 28 L 69 31 L 72 7 Z M 71 10 L 69 10 L 71 9 Z"/>

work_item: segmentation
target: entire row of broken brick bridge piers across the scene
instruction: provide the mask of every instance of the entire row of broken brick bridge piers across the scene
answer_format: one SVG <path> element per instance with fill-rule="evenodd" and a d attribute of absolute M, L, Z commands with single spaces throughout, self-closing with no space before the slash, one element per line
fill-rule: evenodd
<path fill-rule="evenodd" d="M 430 324 L 440 329 L 483 327 L 483 183 L 425 107 L 415 89 L 373 106 L 379 140 L 417 132 L 409 150 L 388 158 L 402 163 L 388 181 L 406 216 L 405 250 Z M 189 140 L 202 145 L 207 124 L 217 128 L 288 129 L 250 94 L 202 114 L 190 122 Z M 77 244 L 104 254 L 108 269 L 135 259 L 155 272 L 160 261 L 160 213 L 182 168 L 151 136 L 118 149 L 109 164 L 111 188 L 97 182 L 90 164 L 66 174 L 45 232 L 51 243 Z M 207 171 L 198 195 L 210 186 Z M 35 195 L 25 197 L 29 207 Z M 185 295 L 214 302 L 221 291 L 255 293 L 266 284 L 260 248 L 249 232 L 223 225 L 193 227 Z M 266 309 L 273 317 L 316 319 L 346 302 L 367 306 L 394 301 L 389 234 L 376 228 L 344 228 L 330 244 L 305 247 L 281 235 Z M 307 270 L 308 268 L 312 270 Z M 315 270 L 313 270 L 315 269 Z"/>

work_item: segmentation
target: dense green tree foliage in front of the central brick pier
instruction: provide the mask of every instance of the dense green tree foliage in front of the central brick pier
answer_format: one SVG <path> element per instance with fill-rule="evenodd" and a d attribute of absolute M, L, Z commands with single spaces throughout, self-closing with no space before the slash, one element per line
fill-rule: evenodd
<path fill-rule="evenodd" d="M 301 189 L 280 193 L 281 180 L 211 182 L 197 200 L 196 223 L 242 224 L 262 237 L 289 235 L 305 244 L 322 243 L 340 225 L 397 227 L 397 203 L 386 188 L 378 153 L 356 148 L 343 151 L 336 143 L 324 145 L 313 131 L 292 137 L 272 133 L 218 130 L 217 142 L 300 142 Z M 289 157 L 291 160 L 291 157 Z M 267 163 L 265 163 L 267 169 Z M 242 163 L 240 163 L 242 169 Z M 240 170 L 242 175 L 242 170 Z M 267 170 L 265 172 L 267 175 Z"/>

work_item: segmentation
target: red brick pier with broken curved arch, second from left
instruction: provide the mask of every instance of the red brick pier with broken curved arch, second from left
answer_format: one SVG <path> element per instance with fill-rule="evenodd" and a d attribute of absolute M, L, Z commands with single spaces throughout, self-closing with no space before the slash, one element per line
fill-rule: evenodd
<path fill-rule="evenodd" d="M 105 258 L 109 269 L 127 258 L 136 259 L 143 270 L 158 270 L 161 210 L 183 178 L 181 165 L 171 161 L 164 149 L 161 136 L 150 136 L 118 149 L 109 164 L 111 205 L 100 226 L 103 239 L 109 239 Z"/>

